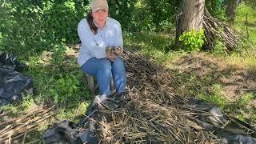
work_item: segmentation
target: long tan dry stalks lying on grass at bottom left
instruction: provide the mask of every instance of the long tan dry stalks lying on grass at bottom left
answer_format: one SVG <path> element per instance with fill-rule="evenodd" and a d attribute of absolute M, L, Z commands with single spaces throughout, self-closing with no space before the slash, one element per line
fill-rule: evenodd
<path fill-rule="evenodd" d="M 40 122 L 54 115 L 54 107 L 41 106 L 18 118 L 0 122 L 0 143 L 25 143 L 27 132 L 36 130 Z M 1 114 L 1 118 L 5 116 L 6 113 Z"/>

